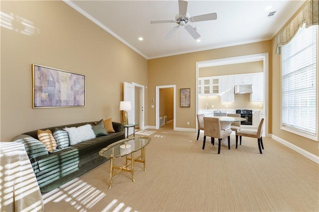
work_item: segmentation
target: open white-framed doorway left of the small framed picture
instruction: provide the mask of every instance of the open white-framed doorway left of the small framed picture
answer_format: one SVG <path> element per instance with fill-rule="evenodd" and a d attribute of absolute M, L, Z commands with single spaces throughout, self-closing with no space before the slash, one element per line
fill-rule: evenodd
<path fill-rule="evenodd" d="M 163 98 L 160 98 L 160 94 L 162 94 L 161 97 Z M 166 98 L 163 95 L 165 95 Z M 165 104 L 170 104 L 170 106 L 167 106 L 166 109 L 164 108 L 160 112 L 161 107 L 166 107 L 164 106 Z M 164 118 L 166 118 L 166 122 L 172 120 L 173 122 L 172 128 L 173 130 L 175 130 L 176 128 L 176 85 L 156 87 L 156 129 L 160 128 L 160 124 L 163 125 L 162 123 L 164 122 Z"/>

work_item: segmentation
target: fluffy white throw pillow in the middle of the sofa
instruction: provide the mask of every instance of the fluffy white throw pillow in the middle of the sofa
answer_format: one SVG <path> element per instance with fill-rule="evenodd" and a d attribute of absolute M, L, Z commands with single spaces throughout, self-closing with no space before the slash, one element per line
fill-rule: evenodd
<path fill-rule="evenodd" d="M 91 124 L 85 124 L 78 127 L 65 127 L 64 130 L 69 133 L 71 145 L 95 138 Z"/>

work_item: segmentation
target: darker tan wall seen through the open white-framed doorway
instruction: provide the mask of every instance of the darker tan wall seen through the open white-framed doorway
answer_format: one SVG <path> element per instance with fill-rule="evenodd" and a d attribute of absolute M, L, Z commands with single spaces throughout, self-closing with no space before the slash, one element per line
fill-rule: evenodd
<path fill-rule="evenodd" d="M 160 116 L 167 115 L 167 121 L 174 117 L 174 89 L 160 89 Z"/>

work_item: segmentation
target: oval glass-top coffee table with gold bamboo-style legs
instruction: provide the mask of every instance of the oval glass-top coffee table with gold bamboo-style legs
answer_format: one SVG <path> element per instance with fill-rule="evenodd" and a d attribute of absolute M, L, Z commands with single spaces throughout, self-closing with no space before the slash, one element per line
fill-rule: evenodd
<path fill-rule="evenodd" d="M 134 162 L 140 162 L 144 164 L 144 171 L 146 170 L 146 159 L 145 159 L 145 147 L 151 141 L 150 137 L 132 137 L 123 139 L 108 145 L 106 148 L 99 151 L 99 155 L 110 159 L 110 184 L 109 189 L 112 188 L 113 177 L 120 171 L 131 172 L 132 181 L 134 181 Z M 134 153 L 141 150 L 141 155 L 134 157 Z M 131 155 L 131 156 L 130 156 Z M 115 158 L 121 158 L 125 156 L 125 165 L 116 166 L 114 165 Z M 131 167 L 130 167 L 131 166 Z M 114 169 L 118 169 L 114 171 Z"/>

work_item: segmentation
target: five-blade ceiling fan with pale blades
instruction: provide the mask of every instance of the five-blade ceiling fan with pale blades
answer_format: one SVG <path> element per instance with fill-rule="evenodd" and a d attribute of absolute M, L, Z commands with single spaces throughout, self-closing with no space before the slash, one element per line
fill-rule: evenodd
<path fill-rule="evenodd" d="M 200 34 L 189 25 L 188 22 L 198 22 L 198 21 L 205 21 L 205 20 L 216 20 L 217 13 L 208 13 L 203 15 L 196 15 L 190 16 L 187 13 L 187 1 L 186 0 L 178 0 L 178 10 L 179 13 L 175 16 L 175 20 L 152 20 L 151 23 L 177 23 L 177 26 L 174 26 L 168 34 L 165 36 L 165 39 L 169 39 L 173 33 L 180 27 L 184 26 L 187 32 L 194 38 L 198 39 Z"/>

